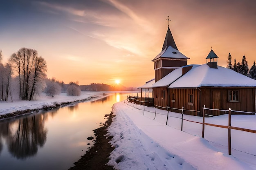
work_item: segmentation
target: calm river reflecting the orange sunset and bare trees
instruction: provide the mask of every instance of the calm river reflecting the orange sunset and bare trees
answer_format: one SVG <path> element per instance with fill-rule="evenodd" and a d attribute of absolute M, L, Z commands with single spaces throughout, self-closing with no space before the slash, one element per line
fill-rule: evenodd
<path fill-rule="evenodd" d="M 93 130 L 127 93 L 0 121 L 0 170 L 66 170 L 89 147 Z"/>

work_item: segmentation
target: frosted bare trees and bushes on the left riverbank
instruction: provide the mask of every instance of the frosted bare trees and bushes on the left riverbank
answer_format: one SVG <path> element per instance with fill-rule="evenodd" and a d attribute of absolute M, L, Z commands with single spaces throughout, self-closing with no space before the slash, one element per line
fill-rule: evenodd
<path fill-rule="evenodd" d="M 19 49 L 11 54 L 6 64 L 2 63 L 2 57 L 0 50 L 0 101 L 7 102 L 9 98 L 11 101 L 33 100 L 42 92 L 48 96 L 57 95 L 61 91 L 67 92 L 67 95 L 81 94 L 76 82 L 64 84 L 55 78 L 48 79 L 46 61 L 35 49 Z"/>

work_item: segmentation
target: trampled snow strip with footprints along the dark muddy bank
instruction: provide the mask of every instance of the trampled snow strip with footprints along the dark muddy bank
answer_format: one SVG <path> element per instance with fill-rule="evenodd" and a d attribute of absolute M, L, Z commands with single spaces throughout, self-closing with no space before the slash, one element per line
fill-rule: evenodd
<path fill-rule="evenodd" d="M 114 136 L 112 144 L 116 146 L 110 156 L 112 161 L 109 162 L 114 168 L 120 170 L 194 169 L 137 128 L 124 110 L 117 106 L 114 107 L 114 113 L 117 116 L 109 128 L 110 134 Z M 153 126 L 158 126 L 157 124 Z"/>

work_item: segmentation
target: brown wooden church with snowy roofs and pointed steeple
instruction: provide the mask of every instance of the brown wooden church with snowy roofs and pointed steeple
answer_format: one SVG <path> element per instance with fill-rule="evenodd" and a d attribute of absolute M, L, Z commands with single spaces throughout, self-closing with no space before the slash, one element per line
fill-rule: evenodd
<path fill-rule="evenodd" d="M 168 106 L 173 111 L 184 107 L 187 115 L 202 116 L 204 105 L 206 108 L 231 108 L 255 113 L 256 80 L 218 66 L 218 56 L 213 49 L 202 57 L 207 59 L 206 64 L 187 65 L 189 57 L 178 50 L 168 25 L 162 51 L 151 60 L 154 62 L 155 78 L 138 87 L 141 99 L 144 93 L 148 93 L 147 101 L 152 101 L 152 106 Z M 211 114 L 225 113 L 212 110 Z"/>

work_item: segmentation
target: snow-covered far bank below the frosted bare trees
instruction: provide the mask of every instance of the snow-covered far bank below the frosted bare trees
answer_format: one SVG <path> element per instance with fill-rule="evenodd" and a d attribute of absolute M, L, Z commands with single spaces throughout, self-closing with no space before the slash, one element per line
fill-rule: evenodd
<path fill-rule="evenodd" d="M 46 96 L 42 93 L 33 101 L 14 101 L 14 102 L 0 102 L 0 115 L 6 115 L 15 111 L 24 110 L 40 110 L 43 107 L 51 107 L 61 103 L 76 102 L 84 99 L 99 99 L 104 97 L 103 93 L 110 94 L 112 92 L 81 92 L 80 96 L 68 96 L 67 93 L 61 93 L 54 97 Z M 97 98 L 96 98 L 97 97 Z"/>

